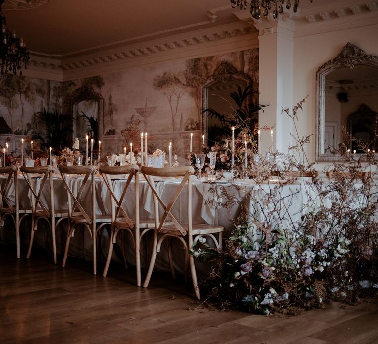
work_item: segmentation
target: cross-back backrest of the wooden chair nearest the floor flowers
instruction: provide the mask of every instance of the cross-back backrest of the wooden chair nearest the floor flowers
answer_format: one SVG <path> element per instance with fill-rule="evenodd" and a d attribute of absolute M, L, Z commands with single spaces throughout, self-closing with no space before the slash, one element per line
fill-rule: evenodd
<path fill-rule="evenodd" d="M 182 235 L 186 235 L 187 231 L 180 225 L 179 221 L 172 215 L 171 210 L 181 192 L 184 189 L 185 184 L 187 184 L 187 197 L 188 197 L 188 233 L 190 234 L 192 229 L 192 214 L 191 214 L 191 176 L 194 174 L 194 168 L 192 166 L 176 167 L 176 168 L 154 168 L 142 166 L 141 172 L 147 180 L 148 185 L 154 194 L 154 212 L 155 219 L 158 219 L 158 207 L 159 205 L 163 208 L 164 213 L 161 216 L 160 221 L 155 220 L 155 226 L 160 230 L 166 221 L 171 221 L 175 227 L 180 231 Z M 154 177 L 182 177 L 181 183 L 177 187 L 175 193 L 172 195 L 167 204 L 164 203 L 160 195 L 156 190 Z"/>

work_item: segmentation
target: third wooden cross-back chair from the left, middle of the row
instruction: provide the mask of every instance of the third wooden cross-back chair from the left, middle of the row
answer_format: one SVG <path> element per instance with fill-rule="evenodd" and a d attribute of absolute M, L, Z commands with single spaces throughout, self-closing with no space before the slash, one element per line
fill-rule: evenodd
<path fill-rule="evenodd" d="M 96 188 L 95 188 L 95 166 L 59 166 L 59 172 L 62 175 L 64 186 L 67 190 L 68 203 L 68 229 L 65 243 L 62 266 L 65 266 L 68 256 L 69 243 L 75 235 L 77 225 L 83 225 L 88 229 L 92 238 L 93 248 L 93 273 L 97 273 L 97 234 L 106 225 L 111 223 L 111 217 L 102 214 L 96 214 Z M 80 187 L 74 187 L 72 176 L 81 174 Z M 90 188 L 90 197 L 85 198 L 87 186 Z M 88 210 L 88 206 L 90 210 Z M 97 227 L 97 223 L 101 223 Z"/>

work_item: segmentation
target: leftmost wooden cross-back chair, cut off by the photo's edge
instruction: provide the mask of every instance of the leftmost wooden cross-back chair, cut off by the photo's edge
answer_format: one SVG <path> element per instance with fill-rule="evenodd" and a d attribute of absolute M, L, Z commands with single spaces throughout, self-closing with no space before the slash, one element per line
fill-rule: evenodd
<path fill-rule="evenodd" d="M 0 183 L 0 228 L 4 228 L 5 219 L 10 216 L 16 230 L 17 258 L 20 258 L 20 223 L 32 210 L 20 209 L 16 166 L 0 167 L 0 174 L 6 175 L 5 182 Z M 14 193 L 11 193 L 12 185 Z"/>

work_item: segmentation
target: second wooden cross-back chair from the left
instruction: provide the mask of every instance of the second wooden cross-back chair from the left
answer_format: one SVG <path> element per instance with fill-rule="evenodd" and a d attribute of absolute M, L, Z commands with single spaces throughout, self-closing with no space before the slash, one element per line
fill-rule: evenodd
<path fill-rule="evenodd" d="M 32 200 L 32 229 L 29 241 L 29 249 L 26 258 L 30 258 L 34 241 L 34 233 L 38 229 L 39 220 L 43 219 L 48 222 L 53 244 L 54 264 L 57 263 L 57 246 L 55 240 L 55 207 L 54 207 L 54 186 L 52 178 L 52 168 L 49 165 L 26 167 L 21 166 L 20 171 L 27 183 Z M 39 187 L 37 179 L 41 178 Z M 44 202 L 42 193 L 49 181 L 49 201 Z M 49 204 L 48 204 L 49 203 Z"/>

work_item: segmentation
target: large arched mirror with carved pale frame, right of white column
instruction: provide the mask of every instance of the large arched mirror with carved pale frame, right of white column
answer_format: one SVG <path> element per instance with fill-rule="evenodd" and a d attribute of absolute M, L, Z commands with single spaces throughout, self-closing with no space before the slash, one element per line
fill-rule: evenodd
<path fill-rule="evenodd" d="M 378 57 L 347 43 L 340 54 L 316 73 L 316 160 L 340 160 L 340 144 L 363 153 L 378 151 Z M 355 140 L 346 140 L 347 136 Z M 358 143 L 357 143 L 358 141 Z"/>

